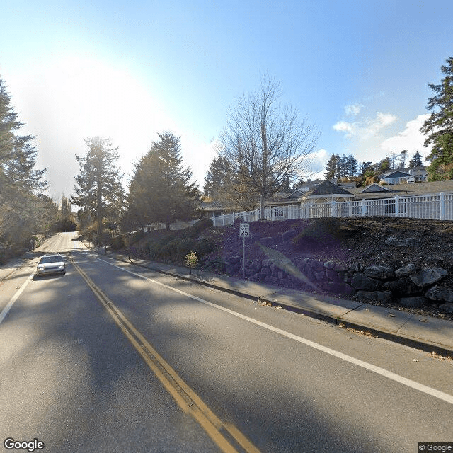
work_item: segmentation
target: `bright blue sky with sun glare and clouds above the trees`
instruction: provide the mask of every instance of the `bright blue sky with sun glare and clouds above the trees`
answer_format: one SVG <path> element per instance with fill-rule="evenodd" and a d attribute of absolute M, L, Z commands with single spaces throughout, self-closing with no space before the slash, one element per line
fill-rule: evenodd
<path fill-rule="evenodd" d="M 0 77 L 55 198 L 92 135 L 119 147 L 127 176 L 171 130 L 202 187 L 229 108 L 263 74 L 319 126 L 313 173 L 333 153 L 426 156 L 428 83 L 453 55 L 451 0 L 3 0 L 0 12 Z"/>

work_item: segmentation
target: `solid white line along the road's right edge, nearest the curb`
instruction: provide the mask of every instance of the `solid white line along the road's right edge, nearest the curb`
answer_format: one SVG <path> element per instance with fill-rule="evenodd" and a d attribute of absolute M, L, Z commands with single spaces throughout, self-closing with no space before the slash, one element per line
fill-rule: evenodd
<path fill-rule="evenodd" d="M 157 282 L 156 280 L 152 280 L 151 278 L 144 277 L 144 275 L 134 273 L 131 270 L 127 270 L 127 269 L 121 268 L 120 266 L 117 266 L 115 264 L 109 263 L 108 261 L 101 260 L 101 258 L 97 258 L 97 257 L 94 257 L 94 258 L 96 258 L 97 260 L 103 261 L 103 263 L 110 264 L 114 268 L 118 268 L 127 273 L 135 275 L 136 277 L 142 278 L 143 280 L 148 280 L 149 282 L 152 282 L 156 285 L 170 289 L 171 291 L 177 292 L 178 294 L 182 294 L 185 297 L 190 297 L 190 299 L 195 299 L 196 301 L 201 302 L 202 304 L 212 306 L 215 309 L 225 311 L 226 313 L 232 314 L 233 316 L 243 319 L 244 321 L 248 321 L 250 323 L 256 324 L 256 326 L 260 326 L 265 329 L 268 329 L 268 331 L 273 331 L 275 333 L 279 333 L 282 336 L 291 338 L 292 340 L 295 340 L 299 343 L 307 345 L 310 348 L 314 348 L 319 351 L 326 352 L 326 354 L 328 354 L 328 355 L 332 355 L 333 357 L 337 357 L 338 359 L 345 360 L 345 362 L 349 362 L 349 363 L 352 363 L 353 365 L 357 365 L 357 367 L 362 367 L 362 368 L 368 369 L 369 371 L 372 371 L 376 374 L 380 374 L 381 376 L 391 379 L 392 381 L 398 382 L 399 384 L 403 384 L 408 387 L 411 387 L 411 389 L 422 391 L 425 394 L 434 396 L 435 398 L 439 398 L 442 401 L 446 401 L 447 403 L 453 404 L 453 396 L 446 394 L 443 391 L 432 389 L 431 387 L 420 384 L 419 382 L 415 382 L 412 379 L 407 379 L 406 377 L 400 376 L 399 374 L 391 372 L 387 369 L 377 367 L 376 365 L 372 365 L 371 363 L 368 363 L 368 362 L 363 362 L 363 360 L 359 360 L 359 359 L 356 359 L 355 357 L 351 357 L 350 355 L 343 354 L 343 352 L 339 352 L 339 351 L 333 350 L 331 348 L 327 348 L 326 346 L 320 345 L 319 343 L 314 343 L 314 341 L 307 340 L 306 338 L 302 338 L 300 336 L 294 335 L 294 333 L 289 333 L 287 331 L 283 331 L 281 328 L 277 328 L 274 326 L 270 326 L 269 324 L 262 323 L 261 321 L 257 321 L 256 319 L 253 319 L 253 318 L 250 318 L 249 316 L 238 313 L 237 311 L 227 309 L 224 306 L 213 304 L 212 302 L 208 302 L 205 299 L 201 299 L 200 297 L 196 297 L 196 296 L 193 296 L 192 294 L 188 294 L 187 292 L 181 291 L 180 289 L 173 288 L 171 286 L 165 285 L 164 283 Z"/>

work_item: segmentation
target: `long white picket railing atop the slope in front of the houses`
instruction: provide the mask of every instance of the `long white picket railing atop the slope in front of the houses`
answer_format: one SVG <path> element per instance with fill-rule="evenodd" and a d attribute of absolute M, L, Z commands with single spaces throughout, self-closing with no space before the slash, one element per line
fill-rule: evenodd
<path fill-rule="evenodd" d="M 266 207 L 266 220 L 316 219 L 319 217 L 391 216 L 414 219 L 453 220 L 453 194 L 415 195 L 345 202 L 301 203 Z M 211 217 L 214 226 L 231 225 L 234 219 L 254 222 L 260 210 Z M 195 221 L 194 221 L 195 222 Z"/>

